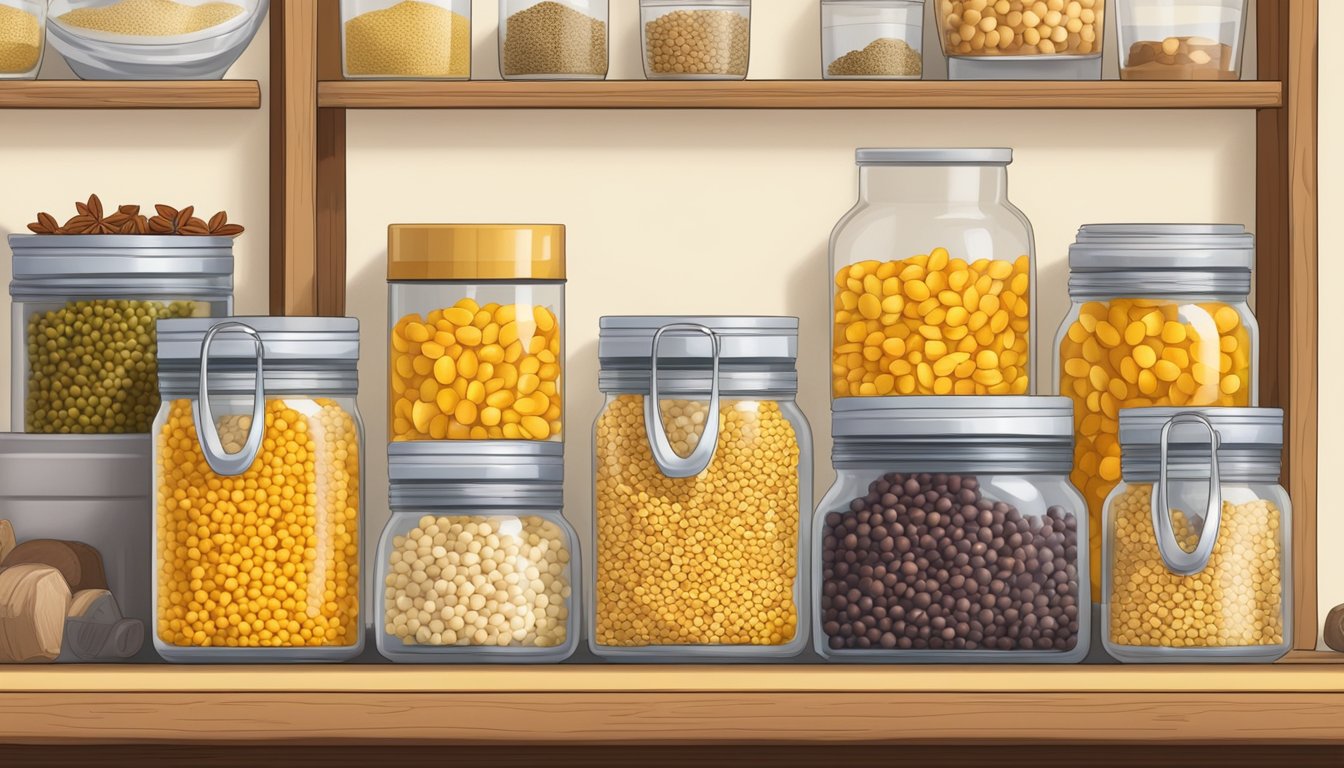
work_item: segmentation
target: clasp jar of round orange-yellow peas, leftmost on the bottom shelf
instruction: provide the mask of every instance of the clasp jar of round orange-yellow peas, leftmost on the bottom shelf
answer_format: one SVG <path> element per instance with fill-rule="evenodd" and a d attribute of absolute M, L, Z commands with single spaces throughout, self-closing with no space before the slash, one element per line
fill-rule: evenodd
<path fill-rule="evenodd" d="M 164 320 L 159 339 L 155 648 L 199 663 L 359 655 L 359 323 Z"/>

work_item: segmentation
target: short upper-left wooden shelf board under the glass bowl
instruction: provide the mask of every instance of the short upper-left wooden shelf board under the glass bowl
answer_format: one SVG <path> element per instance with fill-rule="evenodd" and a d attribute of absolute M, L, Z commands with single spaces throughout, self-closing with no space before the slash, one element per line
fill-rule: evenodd
<path fill-rule="evenodd" d="M 0 109 L 261 109 L 261 83 L 0 81 Z"/>

